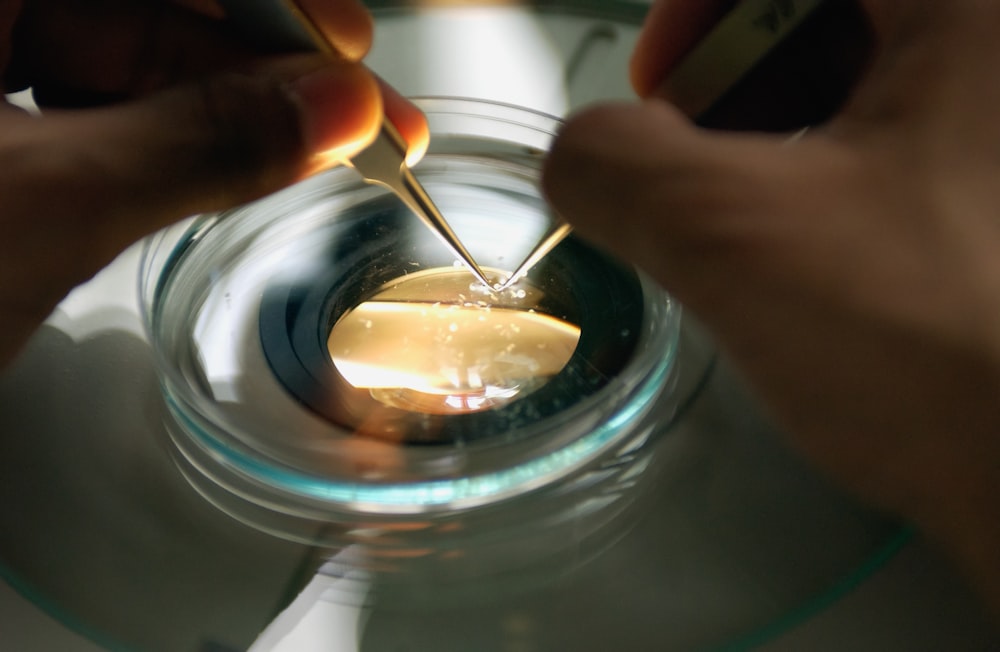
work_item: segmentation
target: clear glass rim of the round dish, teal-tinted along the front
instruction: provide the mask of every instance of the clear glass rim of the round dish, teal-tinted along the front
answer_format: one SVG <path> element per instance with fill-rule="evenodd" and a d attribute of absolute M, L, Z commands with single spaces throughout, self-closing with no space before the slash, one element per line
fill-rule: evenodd
<path fill-rule="evenodd" d="M 494 123 L 502 121 L 518 128 L 530 129 L 550 136 L 560 124 L 557 118 L 543 112 L 488 100 L 446 96 L 425 96 L 410 99 L 432 116 L 460 115 Z M 473 135 L 472 137 L 479 136 Z M 432 152 L 429 156 L 434 155 L 435 153 Z M 447 153 L 443 156 L 447 156 Z M 336 169 L 323 174 L 348 172 Z M 315 179 L 316 177 L 313 177 L 303 183 L 309 183 Z M 170 274 L 170 270 L 177 260 L 191 247 L 197 246 L 198 241 L 207 230 L 224 222 L 224 217 L 228 213 L 229 211 L 223 211 L 214 215 L 202 216 L 188 223 L 183 234 L 170 245 L 170 251 L 165 255 L 161 267 L 154 268 L 157 262 L 154 259 L 160 254 L 159 249 L 165 244 L 164 240 L 168 237 L 171 229 L 181 227 L 175 225 L 148 237 L 144 241 L 138 284 L 143 324 L 154 351 L 157 372 L 160 375 L 161 387 L 170 413 L 175 420 L 180 422 L 179 425 L 184 429 L 185 434 L 230 471 L 236 472 L 247 480 L 263 483 L 269 489 L 278 490 L 283 494 L 318 500 L 338 507 L 348 507 L 351 511 L 463 508 L 517 495 L 571 474 L 617 443 L 619 439 L 623 439 L 620 435 L 630 433 L 630 427 L 640 422 L 642 417 L 653 409 L 655 403 L 653 399 L 667 384 L 668 376 L 674 368 L 680 328 L 659 329 L 662 332 L 659 333 L 660 338 L 655 342 L 650 342 L 651 333 L 647 329 L 642 334 L 633 359 L 623 372 L 623 374 L 630 374 L 634 380 L 623 385 L 620 378 L 613 379 L 608 386 L 574 406 L 571 410 L 575 414 L 586 411 L 588 408 L 594 409 L 595 404 L 598 404 L 602 399 L 606 400 L 609 395 L 617 394 L 618 402 L 615 403 L 615 409 L 604 415 L 605 420 L 601 425 L 587 434 L 571 440 L 566 446 L 556 448 L 538 458 L 468 477 L 395 483 L 349 482 L 303 473 L 276 464 L 266 458 L 255 457 L 248 452 L 227 445 L 224 440 L 198 423 L 199 420 L 204 420 L 205 425 L 211 430 L 220 433 L 228 431 L 224 425 L 225 419 L 220 419 L 219 415 L 214 414 L 210 403 L 207 405 L 208 409 L 204 409 L 206 406 L 203 404 L 207 402 L 205 397 L 197 395 L 188 386 L 182 374 L 161 350 L 156 337 L 156 323 L 159 319 L 158 299 L 164 279 Z M 676 302 L 641 273 L 640 280 L 647 308 L 654 301 L 652 297 L 662 298 L 666 302 L 665 309 L 673 315 L 673 322 L 679 324 L 680 307 Z M 649 350 L 653 347 L 658 347 L 658 355 L 648 355 Z M 642 359 L 643 351 L 647 353 L 646 358 L 648 359 Z M 192 413 L 197 417 L 196 419 L 192 418 Z M 560 413 L 549 417 L 540 424 L 532 424 L 532 427 L 541 429 L 543 424 L 551 425 L 553 421 L 560 420 L 560 418 L 565 420 L 566 415 Z M 667 420 L 663 427 L 666 428 L 669 423 L 670 420 Z"/>

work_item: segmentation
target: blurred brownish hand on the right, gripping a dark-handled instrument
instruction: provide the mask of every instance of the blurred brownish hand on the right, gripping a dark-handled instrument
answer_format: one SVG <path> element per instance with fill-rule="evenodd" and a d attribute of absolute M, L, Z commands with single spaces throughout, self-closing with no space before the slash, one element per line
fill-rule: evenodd
<path fill-rule="evenodd" d="M 725 4 L 656 5 L 633 59 L 647 100 L 571 119 L 548 195 L 701 317 L 797 448 L 942 540 L 1000 611 L 1000 5 L 861 0 L 865 74 L 788 142 L 669 104 L 665 75 Z"/>

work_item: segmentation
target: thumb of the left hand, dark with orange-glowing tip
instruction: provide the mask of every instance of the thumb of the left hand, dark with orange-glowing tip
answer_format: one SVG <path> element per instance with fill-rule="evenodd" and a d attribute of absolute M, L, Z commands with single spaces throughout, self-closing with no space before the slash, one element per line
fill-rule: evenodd
<path fill-rule="evenodd" d="M 378 83 L 316 57 L 101 109 L 0 105 L 0 365 L 74 285 L 141 236 L 295 181 L 374 137 Z"/>

